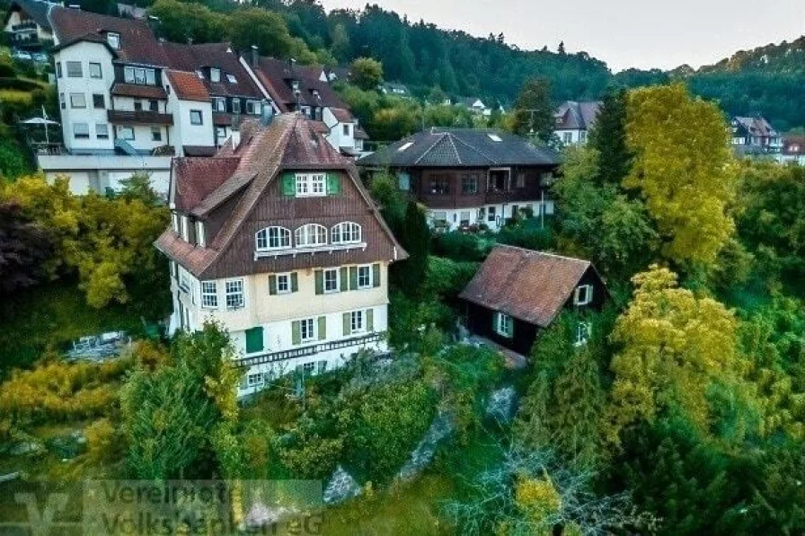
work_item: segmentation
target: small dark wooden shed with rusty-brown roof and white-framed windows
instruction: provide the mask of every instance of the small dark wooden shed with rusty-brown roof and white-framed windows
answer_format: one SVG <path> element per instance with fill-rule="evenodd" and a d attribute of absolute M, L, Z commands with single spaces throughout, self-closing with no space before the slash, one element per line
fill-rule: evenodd
<path fill-rule="evenodd" d="M 541 330 L 563 310 L 600 310 L 608 298 L 588 260 L 496 246 L 459 294 L 473 334 L 527 356 Z M 587 342 L 590 325 L 579 321 L 575 342 Z"/>

